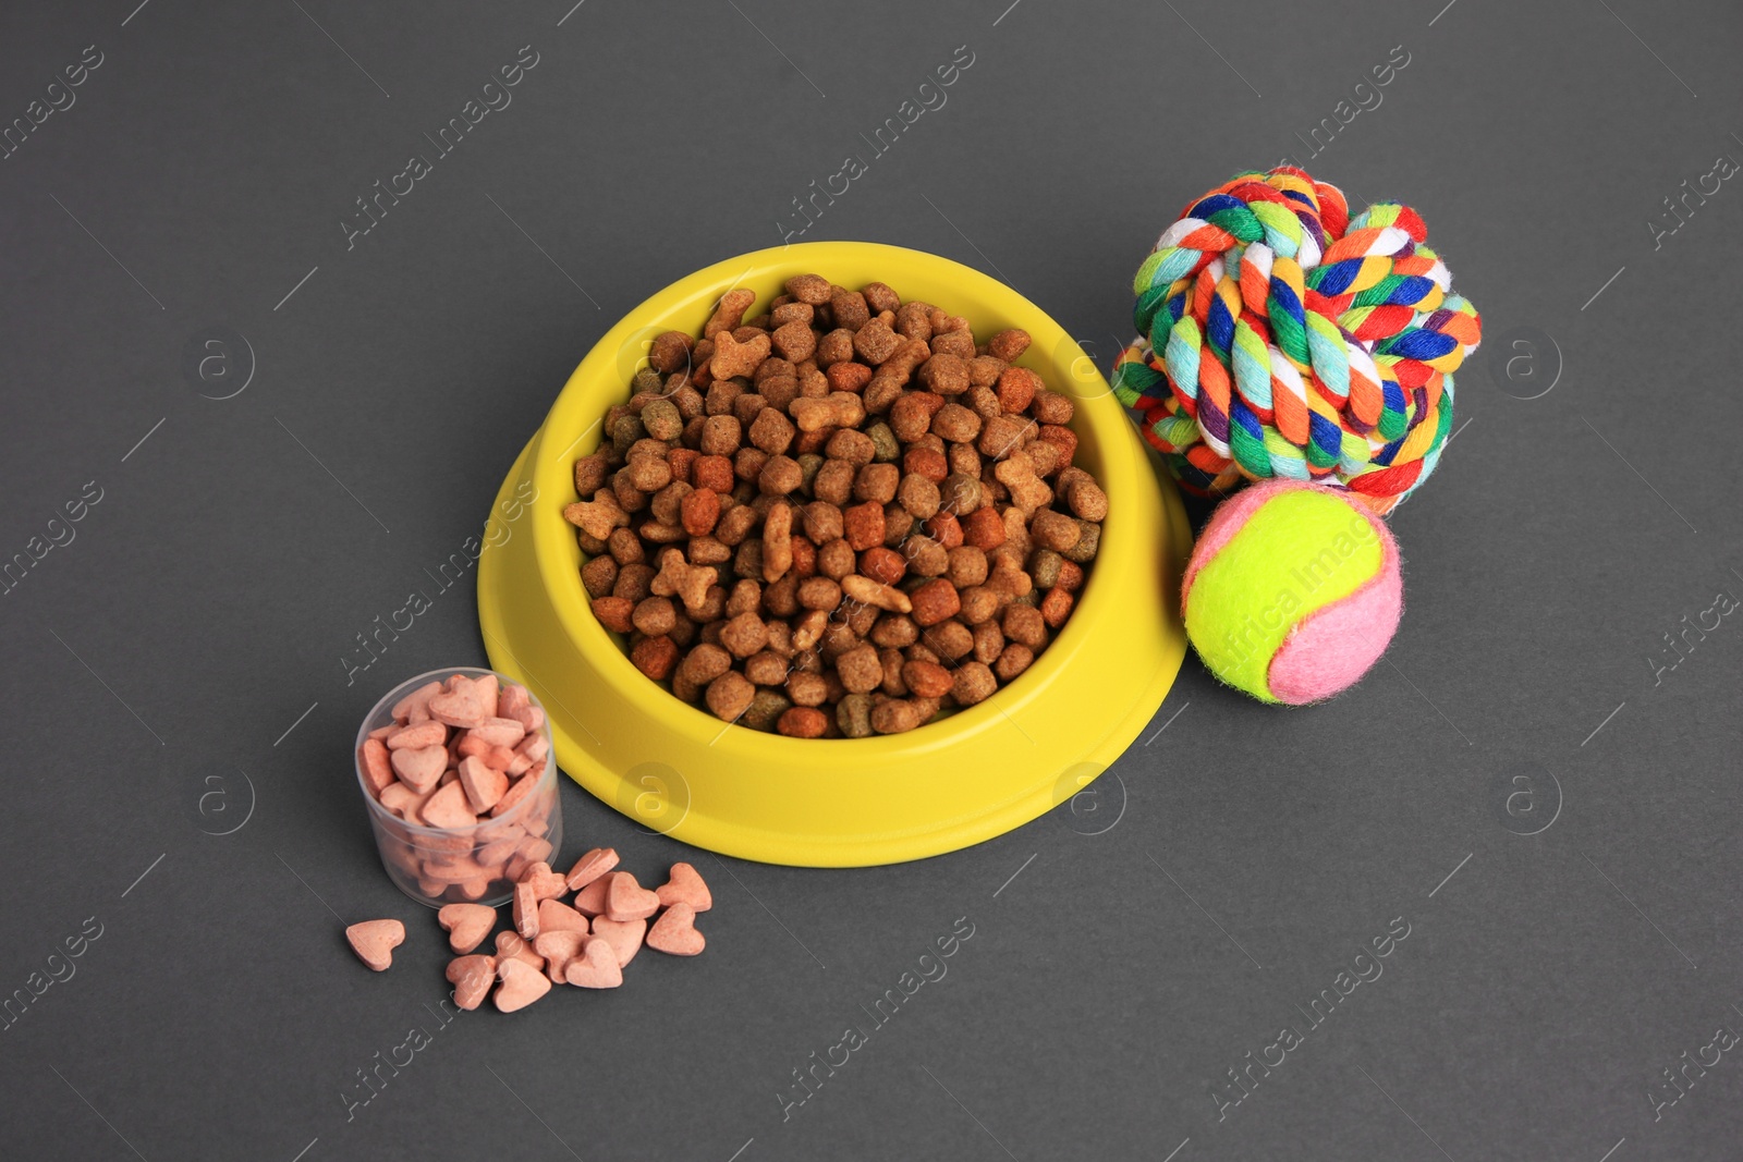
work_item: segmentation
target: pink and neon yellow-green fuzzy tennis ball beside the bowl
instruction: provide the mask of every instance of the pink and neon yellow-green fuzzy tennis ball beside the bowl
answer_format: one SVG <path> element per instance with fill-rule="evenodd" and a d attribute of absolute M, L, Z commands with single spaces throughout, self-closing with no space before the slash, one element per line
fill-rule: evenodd
<path fill-rule="evenodd" d="M 1353 686 L 1393 639 L 1398 545 L 1339 491 L 1267 481 L 1211 514 L 1180 606 L 1217 678 L 1260 702 L 1319 702 Z"/>

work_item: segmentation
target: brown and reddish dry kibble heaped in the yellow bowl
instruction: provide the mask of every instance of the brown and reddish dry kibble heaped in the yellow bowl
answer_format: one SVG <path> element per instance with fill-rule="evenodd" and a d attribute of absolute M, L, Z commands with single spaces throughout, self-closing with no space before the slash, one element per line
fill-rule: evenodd
<path fill-rule="evenodd" d="M 1016 364 L 1027 333 L 978 343 L 882 282 L 753 301 L 655 338 L 575 462 L 594 617 L 755 730 L 901 733 L 985 700 L 1053 641 L 1102 540 L 1072 399 Z M 659 939 L 687 946 L 682 916 Z"/>

